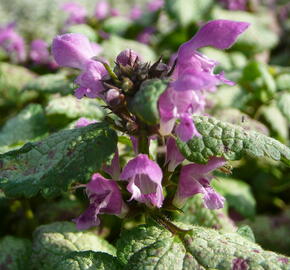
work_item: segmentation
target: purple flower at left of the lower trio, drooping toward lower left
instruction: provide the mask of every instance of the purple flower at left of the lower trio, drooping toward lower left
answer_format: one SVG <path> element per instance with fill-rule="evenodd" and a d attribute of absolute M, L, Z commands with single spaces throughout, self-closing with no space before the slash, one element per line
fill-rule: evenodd
<path fill-rule="evenodd" d="M 99 173 L 95 173 L 86 185 L 86 193 L 90 205 L 83 214 L 73 220 L 79 230 L 98 226 L 99 214 L 123 216 L 127 210 L 116 182 L 104 178 Z"/>

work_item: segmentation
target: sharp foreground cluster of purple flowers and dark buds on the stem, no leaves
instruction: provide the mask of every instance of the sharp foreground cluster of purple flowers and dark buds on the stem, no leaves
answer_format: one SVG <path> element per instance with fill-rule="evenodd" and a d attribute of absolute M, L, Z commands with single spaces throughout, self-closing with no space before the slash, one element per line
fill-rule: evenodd
<path fill-rule="evenodd" d="M 116 65 L 111 69 L 106 60 L 95 57 L 94 47 L 84 36 L 64 34 L 54 39 L 52 53 L 58 65 L 81 71 L 75 81 L 79 85 L 75 96 L 101 98 L 118 117 L 117 121 L 111 119 L 115 128 L 130 136 L 136 155 L 122 168 L 117 151 L 111 165 L 103 166 L 103 173 L 111 179 L 100 173 L 93 175 L 86 185 L 90 205 L 75 220 L 79 228 L 98 225 L 99 214 L 124 216 L 132 206 L 181 207 L 197 193 L 203 194 L 205 207 L 223 207 L 224 198 L 210 182 L 211 172 L 223 167 L 225 159 L 213 156 L 207 164 L 183 165 L 185 157 L 178 149 L 176 138 L 188 141 L 193 136 L 201 136 L 192 115 L 203 111 L 206 92 L 215 91 L 219 84 L 233 84 L 223 73 L 214 73 L 217 62 L 197 50 L 205 46 L 227 49 L 248 26 L 228 20 L 208 22 L 180 46 L 173 66 L 162 63 L 161 58 L 152 65 L 143 63 L 141 56 L 126 49 L 117 56 Z M 157 125 L 144 123 L 130 106 L 142 84 L 150 79 L 169 81 L 158 101 L 160 122 Z M 89 121 L 81 119 L 77 126 L 88 124 Z M 158 162 L 149 154 L 153 140 L 165 149 L 164 157 Z M 175 191 L 173 196 L 165 198 L 168 185 L 174 186 Z"/>

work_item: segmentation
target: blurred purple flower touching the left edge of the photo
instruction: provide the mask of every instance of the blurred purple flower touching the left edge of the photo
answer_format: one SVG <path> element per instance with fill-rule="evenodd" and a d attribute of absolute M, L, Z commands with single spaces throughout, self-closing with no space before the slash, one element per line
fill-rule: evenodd
<path fill-rule="evenodd" d="M 15 23 L 0 28 L 0 47 L 10 54 L 16 62 L 23 62 L 25 60 L 24 40 L 16 33 Z"/>

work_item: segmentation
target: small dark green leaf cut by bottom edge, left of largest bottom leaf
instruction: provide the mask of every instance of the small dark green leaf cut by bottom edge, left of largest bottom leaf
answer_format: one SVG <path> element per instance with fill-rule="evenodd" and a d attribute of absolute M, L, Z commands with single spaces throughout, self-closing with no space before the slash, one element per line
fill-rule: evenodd
<path fill-rule="evenodd" d="M 56 270 L 121 270 L 121 265 L 112 255 L 81 251 L 72 252 L 62 257 L 55 265 Z"/>

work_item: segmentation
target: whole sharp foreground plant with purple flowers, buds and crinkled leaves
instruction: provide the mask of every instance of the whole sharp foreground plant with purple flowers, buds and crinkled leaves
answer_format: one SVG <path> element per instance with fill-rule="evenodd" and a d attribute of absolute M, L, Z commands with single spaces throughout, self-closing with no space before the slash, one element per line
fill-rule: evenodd
<path fill-rule="evenodd" d="M 290 269 L 287 257 L 255 244 L 249 228 L 237 230 L 226 220 L 228 232 L 213 229 L 222 224 L 227 204 L 213 180 L 217 173 L 231 173 L 231 161 L 266 156 L 290 163 L 289 149 L 278 141 L 205 112 L 208 94 L 235 82 L 224 72 L 216 73 L 218 63 L 198 50 L 228 49 L 249 26 L 209 21 L 180 45 L 172 64 L 161 56 L 144 62 L 130 48 L 112 64 L 97 56 L 82 34 L 54 38 L 52 55 L 58 66 L 78 73 L 74 98 L 98 100 L 105 116 L 80 118 L 74 127 L 0 156 L 0 188 L 7 196 L 41 192 L 49 197 L 83 189 L 87 198 L 75 224 L 37 229 L 33 250 L 44 245 L 52 256 L 47 259 L 42 251 L 40 259 L 33 255 L 34 269 L 70 269 L 78 261 L 95 267 L 89 269 Z M 182 222 L 193 201 L 198 207 L 191 215 L 218 213 L 214 223 Z M 97 235 L 86 231 L 102 226 L 108 215 L 123 224 L 116 248 L 108 243 L 104 247 Z M 88 244 L 59 255 L 53 251 L 61 246 L 54 232 L 70 240 L 83 234 Z M 78 240 L 71 241 L 78 246 Z"/>

